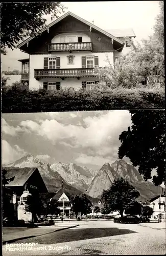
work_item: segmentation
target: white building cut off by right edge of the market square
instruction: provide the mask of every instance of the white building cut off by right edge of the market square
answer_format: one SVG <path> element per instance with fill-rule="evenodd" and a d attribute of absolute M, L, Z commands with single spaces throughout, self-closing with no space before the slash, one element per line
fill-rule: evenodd
<path fill-rule="evenodd" d="M 158 195 L 150 201 L 150 207 L 153 209 L 153 219 L 165 220 L 165 194 Z"/>

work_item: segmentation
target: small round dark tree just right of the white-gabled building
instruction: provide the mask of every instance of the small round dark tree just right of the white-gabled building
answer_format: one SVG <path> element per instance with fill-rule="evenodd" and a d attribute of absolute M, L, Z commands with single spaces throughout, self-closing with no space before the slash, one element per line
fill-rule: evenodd
<path fill-rule="evenodd" d="M 72 211 L 75 212 L 76 218 L 79 212 L 81 212 L 81 217 L 82 215 L 87 215 L 91 212 L 91 202 L 90 200 L 87 198 L 86 194 L 82 194 L 81 196 L 76 195 L 73 199 L 72 199 Z"/>

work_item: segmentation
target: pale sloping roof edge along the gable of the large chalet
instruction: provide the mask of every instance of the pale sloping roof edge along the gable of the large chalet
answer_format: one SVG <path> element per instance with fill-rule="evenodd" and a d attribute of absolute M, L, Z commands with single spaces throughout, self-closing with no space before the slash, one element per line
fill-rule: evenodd
<path fill-rule="evenodd" d="M 54 22 L 50 23 L 48 26 L 46 26 L 46 28 L 43 28 L 42 30 L 40 30 L 36 36 L 39 33 L 44 32 L 45 30 L 47 30 L 48 28 L 52 27 L 53 25 L 57 24 L 58 22 L 60 22 L 60 20 L 62 20 L 63 18 L 67 17 L 68 15 L 73 16 L 74 18 L 80 20 L 82 23 L 85 23 L 86 25 L 90 26 L 93 29 L 96 29 L 98 31 L 100 31 L 101 33 L 107 35 L 108 37 L 114 39 L 115 41 L 119 42 L 120 44 L 124 45 L 124 42 L 121 39 L 116 38 L 115 36 L 113 36 L 112 34 L 108 33 L 107 31 L 95 26 L 94 24 L 87 22 L 87 20 L 77 16 L 76 14 L 72 13 L 72 12 L 67 12 L 65 14 L 63 14 L 61 17 L 57 18 L 56 20 L 54 20 Z M 17 47 L 20 48 L 21 46 L 27 44 L 27 42 L 31 41 L 33 38 L 35 38 L 35 36 L 31 36 L 29 38 L 27 38 L 25 41 L 21 42 Z"/>

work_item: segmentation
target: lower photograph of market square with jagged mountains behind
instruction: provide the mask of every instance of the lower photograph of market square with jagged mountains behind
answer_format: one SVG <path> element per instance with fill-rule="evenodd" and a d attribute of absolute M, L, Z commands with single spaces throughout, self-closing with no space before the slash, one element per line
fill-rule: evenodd
<path fill-rule="evenodd" d="M 4 255 L 164 253 L 163 110 L 2 118 Z"/>

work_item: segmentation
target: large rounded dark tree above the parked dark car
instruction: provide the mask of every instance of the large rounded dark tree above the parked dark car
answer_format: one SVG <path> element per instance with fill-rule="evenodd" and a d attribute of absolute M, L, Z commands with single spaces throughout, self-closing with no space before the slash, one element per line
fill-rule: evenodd
<path fill-rule="evenodd" d="M 102 201 L 107 211 L 118 210 L 123 217 L 124 210 L 139 196 L 139 192 L 132 185 L 125 179 L 119 178 L 113 182 L 108 190 L 103 191 Z"/>

